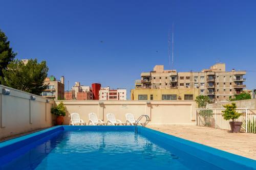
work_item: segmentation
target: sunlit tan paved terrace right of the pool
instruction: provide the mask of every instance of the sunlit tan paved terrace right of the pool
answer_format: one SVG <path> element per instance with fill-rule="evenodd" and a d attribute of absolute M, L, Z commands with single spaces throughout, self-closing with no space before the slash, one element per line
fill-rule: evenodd
<path fill-rule="evenodd" d="M 147 125 L 183 139 L 256 160 L 256 134 L 186 125 Z"/>

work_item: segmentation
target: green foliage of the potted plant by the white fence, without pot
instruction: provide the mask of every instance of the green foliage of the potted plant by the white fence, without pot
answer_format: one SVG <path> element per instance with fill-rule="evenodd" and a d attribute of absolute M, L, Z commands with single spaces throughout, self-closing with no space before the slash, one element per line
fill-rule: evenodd
<path fill-rule="evenodd" d="M 223 105 L 224 108 L 226 108 L 226 110 L 223 110 L 222 113 L 222 116 L 224 117 L 225 120 L 230 120 L 232 119 L 232 122 L 234 122 L 234 119 L 237 119 L 239 118 L 242 114 L 241 113 L 238 113 L 236 111 L 236 103 L 231 103 L 230 104 L 227 104 L 227 105 Z"/>

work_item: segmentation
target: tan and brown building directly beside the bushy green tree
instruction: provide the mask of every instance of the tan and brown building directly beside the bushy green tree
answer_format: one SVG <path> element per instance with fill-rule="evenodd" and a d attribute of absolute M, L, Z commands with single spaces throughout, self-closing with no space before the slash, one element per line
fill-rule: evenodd
<path fill-rule="evenodd" d="M 61 76 L 60 81 L 54 76 L 47 77 L 44 82 L 47 88 L 41 93 L 41 96 L 53 100 L 64 99 L 64 76 Z"/>

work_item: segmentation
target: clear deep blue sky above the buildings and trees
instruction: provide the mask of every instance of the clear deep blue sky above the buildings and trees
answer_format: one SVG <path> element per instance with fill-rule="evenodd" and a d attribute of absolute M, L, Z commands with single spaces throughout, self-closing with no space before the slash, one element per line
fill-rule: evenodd
<path fill-rule="evenodd" d="M 69 80 L 70 87 L 99 82 L 129 92 L 140 72 L 169 67 L 167 34 L 174 22 L 175 69 L 224 62 L 227 70 L 248 70 L 252 89 L 255 9 L 256 1 L 2 1 L 0 29 L 18 59 L 46 60 L 49 75 L 65 76 L 66 89 Z"/>

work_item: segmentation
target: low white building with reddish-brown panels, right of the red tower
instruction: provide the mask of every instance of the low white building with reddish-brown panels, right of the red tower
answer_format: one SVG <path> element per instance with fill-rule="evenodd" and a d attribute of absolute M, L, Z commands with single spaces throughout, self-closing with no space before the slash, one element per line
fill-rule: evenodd
<path fill-rule="evenodd" d="M 126 99 L 126 89 L 110 89 L 110 87 L 105 87 L 99 90 L 99 100 L 123 101 Z"/>

